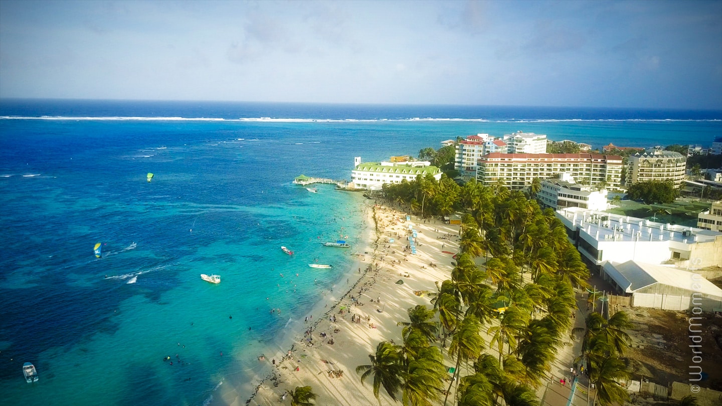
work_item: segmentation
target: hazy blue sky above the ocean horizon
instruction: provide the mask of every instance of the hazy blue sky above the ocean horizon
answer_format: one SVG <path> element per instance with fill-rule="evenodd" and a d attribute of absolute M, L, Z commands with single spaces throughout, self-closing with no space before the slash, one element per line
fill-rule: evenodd
<path fill-rule="evenodd" d="M 722 110 L 722 1 L 0 0 L 0 98 Z"/>

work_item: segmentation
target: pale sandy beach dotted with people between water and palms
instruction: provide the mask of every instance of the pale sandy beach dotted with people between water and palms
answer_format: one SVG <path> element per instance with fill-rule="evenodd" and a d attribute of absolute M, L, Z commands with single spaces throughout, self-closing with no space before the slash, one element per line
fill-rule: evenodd
<path fill-rule="evenodd" d="M 274 353 L 272 371 L 249 399 L 225 405 L 290 404 L 290 396 L 282 397 L 296 386 L 311 386 L 319 395 L 318 405 L 377 403 L 370 382 L 361 384 L 355 369 L 368 363 L 378 342 L 401 341 L 396 322 L 408 318 L 408 308 L 430 306 L 425 295 L 415 293 L 435 291 L 436 283 L 451 275 L 451 256 L 442 251 L 456 252 L 458 244 L 456 238 L 439 237 L 456 236 L 458 227 L 438 220 L 424 223 L 417 217 L 407 221 L 405 213 L 380 201 L 365 202 L 362 211 L 360 255 L 347 272 L 349 284 L 343 293 L 326 295 L 314 306 L 313 319 L 304 323 L 307 334 L 289 332 L 292 344 Z M 417 230 L 415 255 L 405 251 L 409 224 Z M 351 280 L 354 270 L 359 275 L 355 281 Z"/>

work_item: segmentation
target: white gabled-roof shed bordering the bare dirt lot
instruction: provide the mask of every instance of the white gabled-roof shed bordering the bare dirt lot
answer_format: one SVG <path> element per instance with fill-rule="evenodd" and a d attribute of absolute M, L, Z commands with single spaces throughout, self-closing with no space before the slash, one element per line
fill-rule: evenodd
<path fill-rule="evenodd" d="M 722 308 L 722 289 L 695 272 L 673 267 L 627 261 L 607 262 L 601 277 L 617 293 L 632 296 L 632 306 L 685 311 Z"/>

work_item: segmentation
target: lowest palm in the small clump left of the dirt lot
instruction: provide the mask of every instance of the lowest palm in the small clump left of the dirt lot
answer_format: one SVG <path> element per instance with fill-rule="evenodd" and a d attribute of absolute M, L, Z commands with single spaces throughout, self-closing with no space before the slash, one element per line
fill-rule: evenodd
<path fill-rule="evenodd" d="M 630 379 L 627 366 L 617 357 L 592 355 L 589 363 L 589 381 L 596 386 L 594 403 L 601 405 L 624 405 L 629 400 L 627 390 L 619 382 Z"/>

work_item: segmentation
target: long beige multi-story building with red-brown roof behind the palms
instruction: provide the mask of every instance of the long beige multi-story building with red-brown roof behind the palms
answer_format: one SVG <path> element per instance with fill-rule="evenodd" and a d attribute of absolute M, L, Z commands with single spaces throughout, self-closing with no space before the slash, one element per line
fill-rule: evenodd
<path fill-rule="evenodd" d="M 487 154 L 479 159 L 477 181 L 486 186 L 502 182 L 511 189 L 531 185 L 534 178 L 572 173 L 578 183 L 617 190 L 622 157 L 599 154 Z"/>

